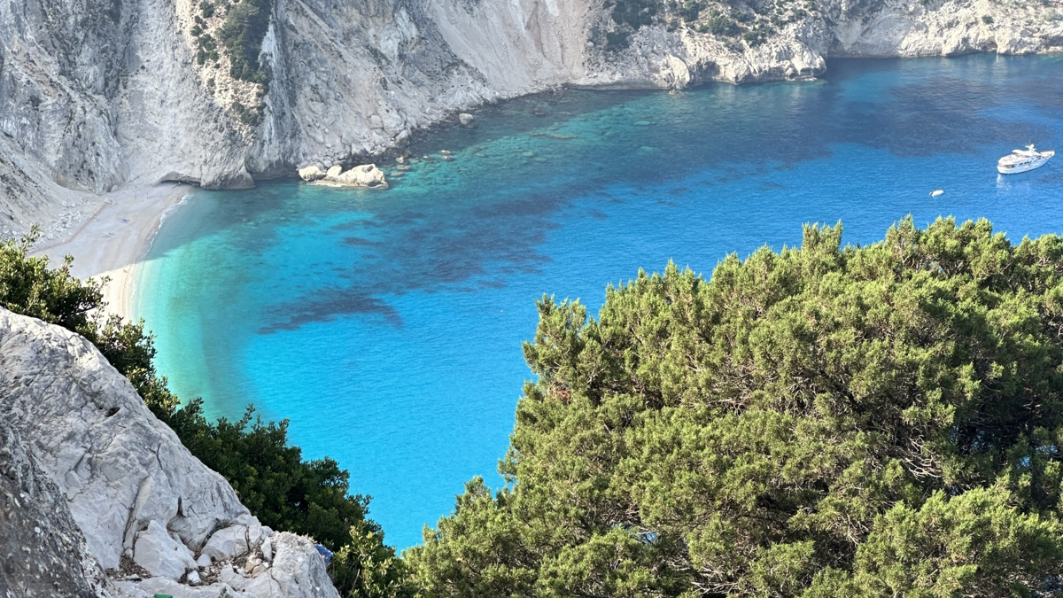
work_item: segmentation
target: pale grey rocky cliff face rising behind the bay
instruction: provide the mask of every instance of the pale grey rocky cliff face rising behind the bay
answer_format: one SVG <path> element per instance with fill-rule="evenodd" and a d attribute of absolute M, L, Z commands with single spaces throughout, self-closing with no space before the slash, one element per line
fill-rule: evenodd
<path fill-rule="evenodd" d="M 559 84 L 747 83 L 814 77 L 828 56 L 1063 48 L 1059 0 L 692 0 L 692 19 L 691 2 L 623 2 L 660 10 L 632 28 L 612 18 L 617 0 L 244 0 L 268 17 L 251 49 L 268 84 L 232 76 L 233 0 L 2 4 L 0 234 L 31 221 L 57 234 L 121 186 L 350 165 L 455 110 Z M 733 18 L 748 35 L 727 31 Z"/>

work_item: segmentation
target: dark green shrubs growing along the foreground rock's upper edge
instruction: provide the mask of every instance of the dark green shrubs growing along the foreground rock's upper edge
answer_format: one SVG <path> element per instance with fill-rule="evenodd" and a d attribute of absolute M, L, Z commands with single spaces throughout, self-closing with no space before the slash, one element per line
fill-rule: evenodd
<path fill-rule="evenodd" d="M 35 239 L 36 232 L 21 242 L 0 244 L 0 305 L 92 342 L 191 453 L 229 480 L 264 525 L 310 535 L 337 551 L 331 572 L 341 595 L 408 595 L 402 562 L 394 549 L 384 546 L 379 526 L 366 518 L 369 499 L 349 494 L 345 470 L 328 458 L 303 461 L 300 449 L 288 444 L 287 420 L 252 421 L 249 408 L 238 421 L 212 423 L 203 416 L 200 399 L 182 406 L 155 371 L 153 337 L 144 321 L 101 316 L 106 281 L 78 280 L 70 273 L 69 256 L 62 266 L 49 268 L 47 258 L 29 255 Z"/>

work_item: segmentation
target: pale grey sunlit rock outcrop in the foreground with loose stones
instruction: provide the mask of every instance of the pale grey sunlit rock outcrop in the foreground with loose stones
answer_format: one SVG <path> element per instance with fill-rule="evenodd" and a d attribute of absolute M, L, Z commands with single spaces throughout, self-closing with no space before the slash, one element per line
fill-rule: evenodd
<path fill-rule="evenodd" d="M 105 593 L 106 569 L 114 596 L 337 596 L 314 544 L 261 526 L 81 336 L 0 310 L 0 498 L 11 484 L 32 497 L 5 514 L 55 530 L 56 557 L 30 563 L 69 595 Z"/>

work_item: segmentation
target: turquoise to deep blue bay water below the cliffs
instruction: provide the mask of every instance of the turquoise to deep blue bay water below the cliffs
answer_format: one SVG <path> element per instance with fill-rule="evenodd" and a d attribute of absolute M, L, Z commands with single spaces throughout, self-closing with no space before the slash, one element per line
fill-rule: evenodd
<path fill-rule="evenodd" d="M 1063 140 L 1063 60 L 829 69 L 490 106 L 478 129 L 423 136 L 416 152 L 437 160 L 387 192 L 197 193 L 163 226 L 136 312 L 180 396 L 290 418 L 304 454 L 349 468 L 387 541 L 410 546 L 462 482 L 501 485 L 543 293 L 594 313 L 640 267 L 709 276 L 728 252 L 798 244 L 805 222 L 842 220 L 849 243 L 907 214 L 984 216 L 1016 240 L 1063 231 L 1063 163 L 995 171 L 1015 147 Z"/>

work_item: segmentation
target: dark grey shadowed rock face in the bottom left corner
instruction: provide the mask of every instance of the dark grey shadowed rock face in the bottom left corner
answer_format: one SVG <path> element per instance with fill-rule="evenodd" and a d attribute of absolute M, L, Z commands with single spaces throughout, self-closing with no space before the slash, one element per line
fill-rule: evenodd
<path fill-rule="evenodd" d="M 63 494 L 0 421 L 0 596 L 97 598 L 105 584 Z"/>

